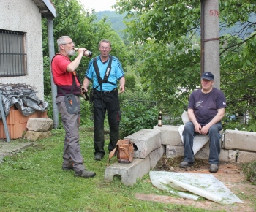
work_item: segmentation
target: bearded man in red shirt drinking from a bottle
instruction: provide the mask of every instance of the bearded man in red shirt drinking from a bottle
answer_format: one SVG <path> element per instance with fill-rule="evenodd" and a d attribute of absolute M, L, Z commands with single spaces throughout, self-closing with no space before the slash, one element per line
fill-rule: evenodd
<path fill-rule="evenodd" d="M 58 51 L 53 57 L 51 69 L 53 81 L 57 86 L 56 104 L 61 121 L 66 131 L 63 152 L 63 170 L 74 170 L 75 176 L 91 178 L 96 173 L 86 170 L 83 164 L 83 156 L 80 153 L 79 144 L 79 122 L 80 122 L 80 83 L 75 75 L 86 48 L 78 49 L 78 56 L 74 61 L 70 61 L 69 56 L 75 55 L 75 44 L 69 36 L 61 36 L 57 40 Z M 64 101 L 65 94 L 74 94 L 78 102 L 78 112 L 70 114 Z"/>

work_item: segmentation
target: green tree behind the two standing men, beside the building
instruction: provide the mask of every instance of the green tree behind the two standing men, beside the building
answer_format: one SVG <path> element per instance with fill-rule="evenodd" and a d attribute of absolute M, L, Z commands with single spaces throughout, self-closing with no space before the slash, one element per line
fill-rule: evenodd
<path fill-rule="evenodd" d="M 85 47 L 91 50 L 93 56 L 99 54 L 98 44 L 102 39 L 109 39 L 112 43 L 111 53 L 117 56 L 124 68 L 129 60 L 129 54 L 125 50 L 124 42 L 114 31 L 110 23 L 105 19 L 95 22 L 96 15 L 93 11 L 84 10 L 78 0 L 52 0 L 56 7 L 56 18 L 53 19 L 54 41 L 63 36 L 69 35 L 75 42 L 76 47 Z M 50 65 L 48 59 L 48 34 L 47 20 L 42 20 L 42 39 L 43 39 L 43 56 L 44 56 L 44 78 L 45 78 L 45 95 L 50 94 Z M 58 51 L 55 45 L 56 52 Z M 128 60 L 127 60 L 128 58 Z M 85 58 L 81 61 L 77 69 L 80 80 L 83 80 L 87 65 L 91 58 Z"/>

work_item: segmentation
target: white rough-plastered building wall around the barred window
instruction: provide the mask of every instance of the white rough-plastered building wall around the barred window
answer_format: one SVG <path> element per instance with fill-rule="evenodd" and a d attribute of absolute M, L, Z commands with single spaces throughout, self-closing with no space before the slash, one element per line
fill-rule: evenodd
<path fill-rule="evenodd" d="M 0 29 L 26 33 L 27 75 L 0 77 L 0 83 L 25 83 L 34 86 L 44 100 L 42 17 L 32 0 L 0 0 Z M 1 44 L 0 44 L 1 45 Z"/>

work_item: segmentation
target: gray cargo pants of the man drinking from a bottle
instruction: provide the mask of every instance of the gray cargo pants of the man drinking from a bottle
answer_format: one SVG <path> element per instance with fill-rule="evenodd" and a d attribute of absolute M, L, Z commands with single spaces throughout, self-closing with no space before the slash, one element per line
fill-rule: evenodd
<path fill-rule="evenodd" d="M 77 96 L 75 97 L 78 100 L 80 108 L 80 99 Z M 69 167 L 72 164 L 75 172 L 79 172 L 85 169 L 79 144 L 80 110 L 78 113 L 69 114 L 65 105 L 64 96 L 56 97 L 56 104 L 66 131 L 62 167 Z"/>

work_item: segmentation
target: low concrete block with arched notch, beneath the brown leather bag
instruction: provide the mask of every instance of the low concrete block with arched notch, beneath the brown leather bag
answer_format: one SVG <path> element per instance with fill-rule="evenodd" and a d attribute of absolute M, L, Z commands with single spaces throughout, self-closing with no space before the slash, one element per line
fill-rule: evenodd
<path fill-rule="evenodd" d="M 113 181 L 114 175 L 121 176 L 121 182 L 126 186 L 133 186 L 136 180 L 149 173 L 149 156 L 146 159 L 133 159 L 130 164 L 114 163 L 105 169 L 105 181 Z"/>

